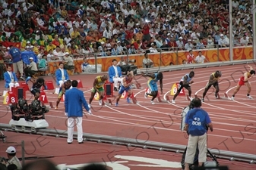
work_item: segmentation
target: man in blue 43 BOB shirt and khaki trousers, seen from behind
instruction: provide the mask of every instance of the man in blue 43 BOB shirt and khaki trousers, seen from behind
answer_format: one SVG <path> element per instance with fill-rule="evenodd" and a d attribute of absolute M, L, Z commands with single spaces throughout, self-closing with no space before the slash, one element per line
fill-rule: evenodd
<path fill-rule="evenodd" d="M 194 155 L 199 150 L 198 164 L 202 166 L 207 161 L 207 128 L 213 131 L 208 113 L 201 109 L 202 102 L 199 98 L 194 98 L 191 101 L 191 107 L 185 117 L 184 131 L 188 132 L 188 147 L 185 156 L 185 170 L 189 170 L 189 164 L 194 163 Z"/>

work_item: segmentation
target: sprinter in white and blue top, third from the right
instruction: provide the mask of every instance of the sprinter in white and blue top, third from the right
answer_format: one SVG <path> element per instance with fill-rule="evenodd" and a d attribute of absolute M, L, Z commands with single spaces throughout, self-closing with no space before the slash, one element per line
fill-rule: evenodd
<path fill-rule="evenodd" d="M 188 90 L 188 96 L 189 96 L 190 100 L 192 100 L 192 97 L 191 97 L 192 91 L 191 91 L 190 85 L 194 82 L 194 81 L 191 81 L 191 79 L 193 77 L 194 77 L 194 71 L 191 71 L 190 73 L 185 74 L 185 76 L 182 77 L 182 79 L 179 82 L 179 86 L 178 86 L 177 92 L 173 96 L 172 104 L 175 104 L 175 98 L 182 91 L 182 88 L 186 88 Z"/>

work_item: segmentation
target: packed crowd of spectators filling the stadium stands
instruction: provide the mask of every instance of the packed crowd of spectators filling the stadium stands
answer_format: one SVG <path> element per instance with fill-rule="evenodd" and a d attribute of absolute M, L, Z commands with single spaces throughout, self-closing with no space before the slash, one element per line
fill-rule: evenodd
<path fill-rule="evenodd" d="M 0 0 L 0 63 L 11 45 L 39 60 L 252 45 L 252 2 Z"/>

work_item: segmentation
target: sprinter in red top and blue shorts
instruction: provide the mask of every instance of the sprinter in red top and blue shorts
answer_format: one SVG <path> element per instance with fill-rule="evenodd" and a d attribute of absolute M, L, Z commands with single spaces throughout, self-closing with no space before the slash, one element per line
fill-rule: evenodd
<path fill-rule="evenodd" d="M 133 77 L 134 77 L 134 74 L 131 71 L 131 72 L 128 72 L 128 75 L 122 79 L 121 86 L 119 89 L 119 96 L 116 99 L 115 107 L 119 106 L 119 100 L 124 92 L 128 93 L 127 98 L 126 98 L 127 103 L 128 104 L 131 103 L 131 101 L 130 101 L 130 97 L 131 97 L 131 93 L 132 93 L 131 81 L 132 81 Z"/>

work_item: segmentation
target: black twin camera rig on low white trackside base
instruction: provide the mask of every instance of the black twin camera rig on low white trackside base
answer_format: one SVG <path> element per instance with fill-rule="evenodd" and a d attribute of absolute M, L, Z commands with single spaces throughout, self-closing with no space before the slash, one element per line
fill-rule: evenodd
<path fill-rule="evenodd" d="M 20 98 L 17 104 L 11 104 L 9 107 L 11 109 L 11 119 L 16 121 L 21 118 L 30 122 L 38 119 L 45 119 L 44 114 L 49 112 L 46 106 L 42 106 L 40 100 L 33 100 L 31 104 L 27 104 L 27 100 Z"/>

